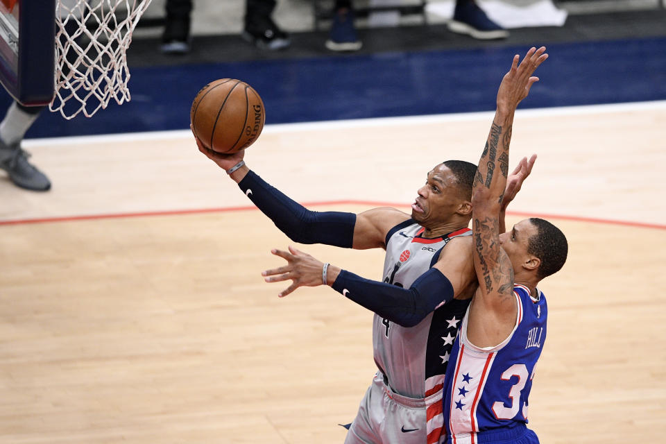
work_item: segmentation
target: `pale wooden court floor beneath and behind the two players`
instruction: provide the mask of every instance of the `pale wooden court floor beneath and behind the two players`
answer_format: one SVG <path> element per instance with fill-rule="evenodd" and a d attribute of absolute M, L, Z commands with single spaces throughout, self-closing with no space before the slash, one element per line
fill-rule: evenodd
<path fill-rule="evenodd" d="M 246 160 L 316 210 L 409 211 L 476 162 L 491 114 L 268 127 Z M 508 223 L 570 242 L 545 280 L 530 396 L 542 443 L 666 434 L 666 103 L 518 112 L 538 153 Z M 375 370 L 372 314 L 326 287 L 278 299 L 290 244 L 185 132 L 34 140 L 54 188 L 0 177 L 0 443 L 341 443 Z M 379 278 L 382 251 L 301 246 Z"/>

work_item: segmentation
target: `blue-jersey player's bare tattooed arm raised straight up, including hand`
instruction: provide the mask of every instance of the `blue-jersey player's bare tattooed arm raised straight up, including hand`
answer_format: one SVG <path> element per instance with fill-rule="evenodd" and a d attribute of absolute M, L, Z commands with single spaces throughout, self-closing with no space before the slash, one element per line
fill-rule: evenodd
<path fill-rule="evenodd" d="M 497 111 L 474 180 L 472 231 L 479 288 L 470 309 L 468 334 L 472 343 L 481 347 L 497 345 L 515 323 L 513 267 L 499 243 L 500 212 L 509 174 L 513 114 L 538 80 L 532 74 L 548 57 L 545 50 L 543 46 L 531 48 L 520 65 L 520 57 L 514 56 L 511 69 L 499 85 Z"/>

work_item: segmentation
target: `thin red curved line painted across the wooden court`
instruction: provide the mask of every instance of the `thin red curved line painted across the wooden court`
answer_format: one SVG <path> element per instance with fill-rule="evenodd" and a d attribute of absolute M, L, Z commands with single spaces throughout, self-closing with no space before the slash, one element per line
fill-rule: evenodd
<path fill-rule="evenodd" d="M 373 200 L 325 200 L 319 202 L 303 203 L 305 207 L 318 207 L 325 205 L 368 205 L 371 207 L 409 207 L 409 204 L 395 202 L 377 202 Z M 71 221 L 94 221 L 97 219 L 125 219 L 130 217 L 152 217 L 152 216 L 180 216 L 187 214 L 205 214 L 205 213 L 223 213 L 234 211 L 257 210 L 254 205 L 243 207 L 220 207 L 220 208 L 201 208 L 196 210 L 169 210 L 155 212 L 135 212 L 135 213 L 112 213 L 112 214 L 87 214 L 80 216 L 61 216 L 48 217 L 42 219 L 17 219 L 14 221 L 0 221 L 0 225 L 26 225 L 29 223 L 50 223 L 50 222 L 71 222 Z M 608 225 L 624 225 L 639 228 L 654 228 L 656 230 L 666 230 L 666 225 L 657 223 L 642 223 L 633 221 L 616 221 L 613 219 L 597 219 L 593 217 L 566 216 L 562 214 L 540 214 L 528 212 L 508 212 L 510 216 L 540 217 L 543 219 L 561 219 L 563 221 L 577 221 L 590 223 L 604 223 Z"/>

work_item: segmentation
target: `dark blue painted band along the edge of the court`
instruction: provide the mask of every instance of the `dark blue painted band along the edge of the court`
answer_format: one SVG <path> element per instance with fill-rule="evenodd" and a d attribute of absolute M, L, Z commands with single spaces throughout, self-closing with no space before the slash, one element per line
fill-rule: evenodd
<path fill-rule="evenodd" d="M 495 109 L 513 54 L 528 46 L 377 53 L 307 60 L 135 68 L 132 101 L 91 119 L 44 112 L 26 137 L 59 137 L 189 128 L 198 89 L 217 78 L 253 85 L 266 123 L 393 117 Z M 541 82 L 521 108 L 666 99 L 666 38 L 552 44 Z M 1 93 L 0 109 L 10 104 Z M 1 111 L 0 111 L 1 112 Z"/>

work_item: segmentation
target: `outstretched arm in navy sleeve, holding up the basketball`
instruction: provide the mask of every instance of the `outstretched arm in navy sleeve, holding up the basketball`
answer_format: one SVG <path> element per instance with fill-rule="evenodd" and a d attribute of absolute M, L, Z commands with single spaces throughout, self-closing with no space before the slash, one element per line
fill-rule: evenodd
<path fill-rule="evenodd" d="M 195 137 L 196 139 L 196 137 Z M 300 244 L 327 244 L 343 248 L 381 248 L 386 232 L 409 219 L 393 208 L 377 208 L 361 214 L 316 212 L 269 185 L 244 162 L 245 151 L 221 154 L 196 139 L 199 151 L 228 172 L 240 189 L 289 239 Z"/>

